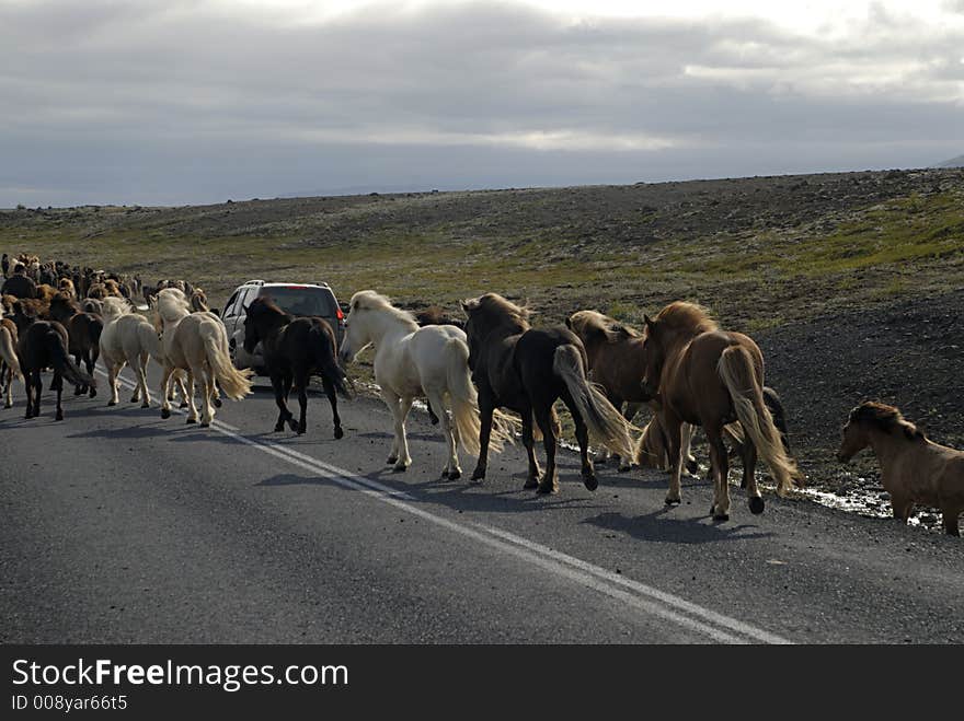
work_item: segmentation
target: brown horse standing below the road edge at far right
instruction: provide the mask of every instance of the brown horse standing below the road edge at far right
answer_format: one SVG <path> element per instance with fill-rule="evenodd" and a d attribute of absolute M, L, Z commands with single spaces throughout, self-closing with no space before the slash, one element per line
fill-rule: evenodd
<path fill-rule="evenodd" d="M 894 518 L 904 523 L 915 503 L 941 509 L 944 533 L 960 536 L 964 511 L 964 452 L 939 445 L 900 411 L 863 403 L 850 411 L 837 458 L 847 463 L 867 446 L 881 464 L 881 485 L 891 493 Z"/>

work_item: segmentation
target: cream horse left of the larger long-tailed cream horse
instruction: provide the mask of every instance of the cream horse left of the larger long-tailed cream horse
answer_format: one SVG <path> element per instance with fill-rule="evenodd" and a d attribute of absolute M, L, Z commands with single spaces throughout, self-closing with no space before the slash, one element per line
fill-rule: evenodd
<path fill-rule="evenodd" d="M 141 408 L 150 407 L 147 388 L 147 361 L 149 357 L 163 364 L 163 351 L 158 333 L 150 321 L 133 312 L 130 303 L 123 298 L 105 298 L 104 329 L 101 333 L 101 358 L 107 368 L 111 386 L 108 406 L 116 406 L 118 398 L 117 376 L 124 365 L 130 364 L 137 379 L 137 387 L 130 403 L 141 400 Z"/>

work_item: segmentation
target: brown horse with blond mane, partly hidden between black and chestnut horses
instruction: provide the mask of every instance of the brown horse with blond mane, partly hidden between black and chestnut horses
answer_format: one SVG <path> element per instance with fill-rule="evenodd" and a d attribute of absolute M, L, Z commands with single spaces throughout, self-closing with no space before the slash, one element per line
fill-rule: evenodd
<path fill-rule="evenodd" d="M 589 377 L 598 383 L 609 402 L 622 410 L 623 418 L 632 421 L 640 408 L 647 402 L 643 391 L 645 361 L 643 358 L 643 334 L 628 325 L 619 323 L 608 315 L 596 311 L 577 311 L 565 319 L 565 325 L 583 341 L 586 358 L 589 361 Z M 623 408 L 623 404 L 626 407 Z M 650 403 L 655 414 L 657 404 Z M 655 449 L 662 443 L 665 433 L 659 421 L 650 421 L 643 429 L 635 451 L 629 458 L 620 458 L 620 470 L 629 470 L 633 462 L 643 467 L 664 468 L 655 462 Z M 686 449 L 686 467 L 696 474 L 696 458 L 689 451 L 692 439 L 692 427 L 684 425 L 684 447 Z M 665 445 L 665 444 L 664 444 Z M 645 452 L 650 449 L 651 452 Z M 597 456 L 597 462 L 606 460 L 606 450 Z"/>

